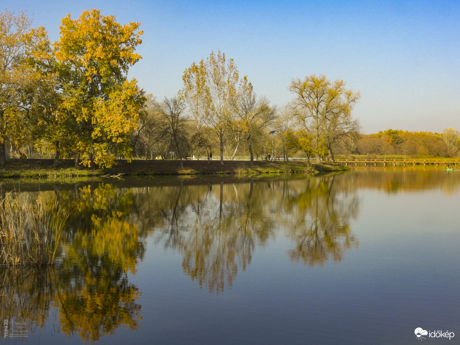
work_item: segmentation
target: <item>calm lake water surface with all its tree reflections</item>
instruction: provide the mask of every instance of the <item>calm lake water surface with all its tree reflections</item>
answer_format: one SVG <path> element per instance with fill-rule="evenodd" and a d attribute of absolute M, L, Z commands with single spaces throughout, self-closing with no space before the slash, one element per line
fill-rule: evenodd
<path fill-rule="evenodd" d="M 5 343 L 460 344 L 460 171 L 15 188 L 73 215 L 0 271 Z"/>

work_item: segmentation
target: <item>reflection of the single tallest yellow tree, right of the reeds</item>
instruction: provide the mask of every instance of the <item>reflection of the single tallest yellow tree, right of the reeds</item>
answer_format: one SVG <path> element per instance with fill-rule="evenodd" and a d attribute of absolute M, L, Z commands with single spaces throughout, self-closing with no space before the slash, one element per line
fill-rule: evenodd
<path fill-rule="evenodd" d="M 59 274 L 62 331 L 95 341 L 120 325 L 136 329 L 140 292 L 129 282 L 128 272 L 136 273 L 145 243 L 129 221 L 131 191 L 100 184 L 73 193 L 61 194 L 63 204 L 75 211 Z"/>

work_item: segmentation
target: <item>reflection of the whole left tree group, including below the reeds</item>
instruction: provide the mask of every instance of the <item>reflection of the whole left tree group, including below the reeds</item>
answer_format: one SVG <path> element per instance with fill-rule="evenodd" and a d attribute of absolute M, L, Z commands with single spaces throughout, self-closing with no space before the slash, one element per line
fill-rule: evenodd
<path fill-rule="evenodd" d="M 129 222 L 130 191 L 101 184 L 40 196 L 73 210 L 64 244 L 55 267 L 0 270 L 2 320 L 42 327 L 54 306 L 61 331 L 85 340 L 97 341 L 122 325 L 138 328 L 140 292 L 128 272 L 136 272 L 145 244 Z"/>

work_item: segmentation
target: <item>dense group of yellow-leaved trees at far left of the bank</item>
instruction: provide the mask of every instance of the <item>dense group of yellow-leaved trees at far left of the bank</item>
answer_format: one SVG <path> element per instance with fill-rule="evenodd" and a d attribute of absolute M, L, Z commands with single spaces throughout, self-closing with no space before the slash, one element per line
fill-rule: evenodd
<path fill-rule="evenodd" d="M 131 158 L 144 91 L 129 68 L 141 59 L 140 23 L 121 25 L 98 9 L 61 21 L 54 43 L 43 27 L 29 28 L 24 12 L 0 16 L 0 165 L 5 141 L 20 148 L 33 142 L 76 163 L 110 167 Z"/>

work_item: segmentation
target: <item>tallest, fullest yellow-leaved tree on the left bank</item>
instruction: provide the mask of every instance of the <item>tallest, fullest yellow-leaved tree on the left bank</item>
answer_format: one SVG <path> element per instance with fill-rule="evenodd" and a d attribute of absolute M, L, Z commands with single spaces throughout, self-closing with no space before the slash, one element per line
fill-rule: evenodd
<path fill-rule="evenodd" d="M 131 158 L 130 133 L 145 102 L 129 68 L 142 57 L 140 23 L 121 25 L 115 16 L 85 10 L 78 19 L 62 19 L 54 44 L 62 83 L 62 111 L 73 125 L 71 151 L 76 162 L 110 167 L 117 156 Z"/>

